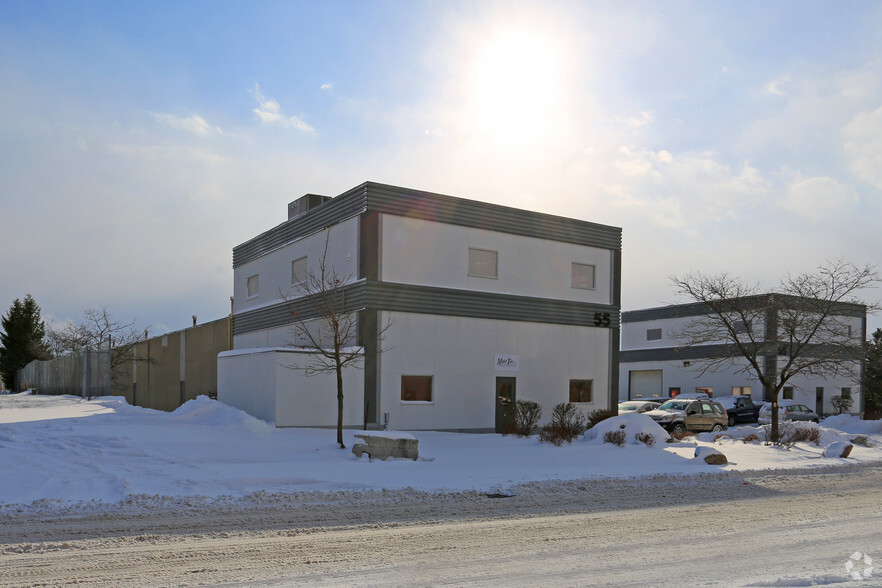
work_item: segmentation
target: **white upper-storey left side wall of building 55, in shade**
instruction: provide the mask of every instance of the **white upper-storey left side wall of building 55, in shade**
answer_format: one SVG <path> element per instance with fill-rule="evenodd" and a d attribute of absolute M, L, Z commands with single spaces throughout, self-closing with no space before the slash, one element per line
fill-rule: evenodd
<path fill-rule="evenodd" d="M 334 225 L 328 243 L 327 268 L 333 268 L 350 282 L 358 279 L 358 226 L 357 217 Z M 308 269 L 318 273 L 326 236 L 326 231 L 313 233 L 237 267 L 233 271 L 233 313 L 278 304 L 285 299 L 284 296 L 299 296 L 296 286 L 291 283 L 291 262 L 306 256 Z M 260 276 L 260 292 L 249 298 L 247 280 L 254 275 Z M 236 347 L 239 346 L 237 339 Z M 249 345 L 243 341 L 241 346 Z"/>

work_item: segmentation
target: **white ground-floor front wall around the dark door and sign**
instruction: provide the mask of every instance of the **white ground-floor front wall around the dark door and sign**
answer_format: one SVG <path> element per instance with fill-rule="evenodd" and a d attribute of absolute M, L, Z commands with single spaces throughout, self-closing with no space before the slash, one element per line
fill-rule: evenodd
<path fill-rule="evenodd" d="M 594 402 L 580 408 L 606 408 L 609 329 L 406 313 L 393 319 L 380 358 L 380 410 L 393 429 L 492 430 L 497 377 L 515 377 L 516 398 L 542 405 L 541 424 L 569 401 L 570 379 L 594 381 Z M 497 370 L 497 354 L 518 356 L 519 369 Z M 432 402 L 402 401 L 402 375 L 432 376 Z"/>

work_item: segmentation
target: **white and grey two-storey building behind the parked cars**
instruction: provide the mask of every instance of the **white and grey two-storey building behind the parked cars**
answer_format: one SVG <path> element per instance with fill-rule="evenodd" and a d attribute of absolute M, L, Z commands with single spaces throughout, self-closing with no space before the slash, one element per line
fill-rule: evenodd
<path fill-rule="evenodd" d="M 866 307 L 857 304 L 838 305 L 838 314 L 848 324 L 856 348 L 866 340 Z M 769 400 L 759 381 L 743 368 L 747 361 L 730 345 L 717 342 L 683 346 L 677 333 L 697 317 L 706 314 L 702 304 L 681 304 L 633 310 L 622 313 L 622 344 L 619 364 L 619 401 L 651 397 L 676 396 L 681 392 L 704 392 L 712 397 L 749 395 L 755 402 Z M 764 321 L 768 324 L 770 317 Z M 750 325 L 760 333 L 764 324 Z M 773 337 L 773 336 L 772 336 Z M 766 339 L 769 340 L 769 339 Z M 786 342 L 771 345 L 774 352 L 763 357 L 763 368 L 777 370 L 786 361 Z M 732 357 L 729 369 L 699 373 L 700 360 L 708 357 Z M 815 410 L 819 415 L 833 414 L 833 396 L 851 396 L 851 412 L 860 414 L 862 362 L 855 360 L 857 377 L 841 375 L 823 379 L 797 375 L 781 391 L 779 400 L 794 400 Z"/>

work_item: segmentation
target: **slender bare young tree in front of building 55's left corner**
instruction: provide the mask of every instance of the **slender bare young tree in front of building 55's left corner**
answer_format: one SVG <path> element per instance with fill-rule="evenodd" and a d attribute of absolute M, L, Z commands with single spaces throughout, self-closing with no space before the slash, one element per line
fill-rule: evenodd
<path fill-rule="evenodd" d="M 337 272 L 328 259 L 331 230 L 325 235 L 325 246 L 317 267 L 306 270 L 296 286 L 297 296 L 284 292 L 291 314 L 296 317 L 293 326 L 294 340 L 289 345 L 306 351 L 309 361 L 303 366 L 286 366 L 300 370 L 305 376 L 334 374 L 337 380 L 337 443 L 343 443 L 343 371 L 362 368 L 364 346 L 359 344 L 359 311 L 363 310 L 357 297 L 352 295 L 352 276 Z M 377 352 L 383 335 L 391 326 L 387 322 L 379 329 Z"/>

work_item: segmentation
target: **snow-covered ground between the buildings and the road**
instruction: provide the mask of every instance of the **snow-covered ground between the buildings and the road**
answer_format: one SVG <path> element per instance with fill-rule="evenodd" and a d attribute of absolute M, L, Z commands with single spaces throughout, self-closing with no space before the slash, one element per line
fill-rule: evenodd
<path fill-rule="evenodd" d="M 625 425 L 623 447 L 604 443 L 606 430 Z M 812 425 L 808 425 L 812 426 Z M 257 492 L 371 491 L 499 492 L 549 480 L 636 478 L 812 468 L 882 461 L 882 423 L 849 416 L 820 425 L 820 445 L 790 449 L 764 438 L 762 427 L 739 426 L 725 437 L 703 433 L 676 443 L 645 415 L 616 417 L 571 445 L 535 437 L 417 431 L 417 461 L 369 461 L 340 450 L 335 431 L 276 429 L 207 397 L 173 413 L 128 405 L 120 397 L 0 395 L 0 509 L 21 512 L 47 503 L 116 503 L 133 496 L 241 497 Z M 634 434 L 653 434 L 651 447 Z M 358 431 L 346 431 L 349 447 Z M 847 459 L 823 457 L 825 446 L 866 436 Z M 710 466 L 696 447 L 729 460 Z"/>

